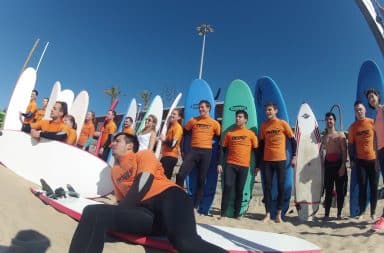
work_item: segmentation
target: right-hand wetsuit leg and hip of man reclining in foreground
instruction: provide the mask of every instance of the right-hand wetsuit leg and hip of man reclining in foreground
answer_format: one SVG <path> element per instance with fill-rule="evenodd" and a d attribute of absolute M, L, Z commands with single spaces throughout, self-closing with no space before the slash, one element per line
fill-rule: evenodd
<path fill-rule="evenodd" d="M 177 205 L 175 204 L 177 203 Z M 171 187 L 142 203 L 150 206 L 155 222 L 161 223 L 166 236 L 178 252 L 221 253 L 227 252 L 204 241 L 196 231 L 193 203 L 180 188 Z M 155 224 L 158 225 L 158 224 Z"/>

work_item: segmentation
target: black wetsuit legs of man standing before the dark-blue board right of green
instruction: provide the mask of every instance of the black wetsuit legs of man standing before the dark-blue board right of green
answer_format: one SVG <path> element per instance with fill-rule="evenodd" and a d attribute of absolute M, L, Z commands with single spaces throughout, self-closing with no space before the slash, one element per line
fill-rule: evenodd
<path fill-rule="evenodd" d="M 272 200 L 272 178 L 276 173 L 277 176 L 277 210 L 281 211 L 284 204 L 284 184 L 285 184 L 285 160 L 283 161 L 264 161 L 264 202 L 265 211 L 269 213 L 271 210 Z"/>

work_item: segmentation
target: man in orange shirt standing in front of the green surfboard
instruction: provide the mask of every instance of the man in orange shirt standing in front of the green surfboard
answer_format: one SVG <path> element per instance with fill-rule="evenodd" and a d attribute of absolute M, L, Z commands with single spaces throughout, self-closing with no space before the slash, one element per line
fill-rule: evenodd
<path fill-rule="evenodd" d="M 229 197 L 235 188 L 235 218 L 240 218 L 241 202 L 243 200 L 244 185 L 251 165 L 251 151 L 257 157 L 259 146 L 256 134 L 247 129 L 248 113 L 244 110 L 236 111 L 236 127 L 229 130 L 221 144 L 219 161 L 227 155 L 227 165 L 224 170 L 224 191 L 221 200 L 221 216 L 224 217 L 229 205 Z M 253 168 L 251 168 L 253 169 Z M 217 165 L 219 173 L 223 173 L 221 164 Z"/>

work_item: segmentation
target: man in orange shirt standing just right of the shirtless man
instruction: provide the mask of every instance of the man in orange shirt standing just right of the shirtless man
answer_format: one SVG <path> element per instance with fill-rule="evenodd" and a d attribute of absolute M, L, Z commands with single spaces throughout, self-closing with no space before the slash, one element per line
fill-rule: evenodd
<path fill-rule="evenodd" d="M 375 219 L 377 205 L 378 164 L 376 160 L 375 126 L 373 119 L 365 117 L 365 106 L 361 101 L 354 104 L 356 121 L 349 127 L 348 152 L 351 162 L 356 166 L 359 182 L 358 219 L 364 218 L 367 202 L 368 181 L 371 188 L 371 218 Z"/>

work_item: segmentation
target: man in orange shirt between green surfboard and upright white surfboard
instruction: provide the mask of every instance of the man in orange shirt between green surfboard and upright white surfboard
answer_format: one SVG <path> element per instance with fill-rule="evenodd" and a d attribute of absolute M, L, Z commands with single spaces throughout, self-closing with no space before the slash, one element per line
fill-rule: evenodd
<path fill-rule="evenodd" d="M 286 157 L 286 141 L 292 146 L 291 165 L 296 167 L 296 140 L 292 129 L 284 120 L 277 118 L 278 108 L 273 103 L 265 105 L 265 114 L 267 120 L 261 125 L 260 131 L 260 160 L 263 159 L 264 168 L 264 204 L 266 215 L 264 222 L 270 220 L 270 208 L 272 199 L 272 178 L 276 173 L 277 176 L 277 215 L 276 222 L 282 222 L 281 210 L 284 202 L 284 184 L 286 177 L 285 162 Z"/>

